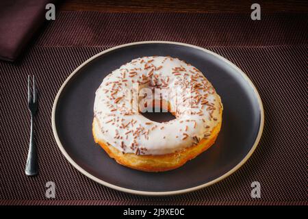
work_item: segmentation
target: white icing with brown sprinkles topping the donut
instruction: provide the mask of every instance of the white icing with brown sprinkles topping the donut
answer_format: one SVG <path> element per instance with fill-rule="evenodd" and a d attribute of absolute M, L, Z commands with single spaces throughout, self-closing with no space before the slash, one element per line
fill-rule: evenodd
<path fill-rule="evenodd" d="M 181 69 L 175 70 L 175 68 Z M 157 88 L 168 83 L 167 87 L 172 91 L 169 103 L 171 107 L 177 106 L 178 109 L 175 112 L 176 119 L 157 123 L 138 112 L 129 113 L 125 104 L 130 103 L 131 99 L 125 90 L 131 90 L 133 82 L 137 81 L 141 88 Z M 194 86 L 198 93 L 190 94 L 185 90 Z M 175 93 L 175 90 L 179 93 Z M 189 101 L 175 103 L 177 94 L 183 98 L 192 96 L 191 114 L 189 111 L 185 112 Z M 197 96 L 202 98 L 194 103 L 197 101 Z M 136 109 L 136 105 L 133 107 Z M 107 75 L 97 89 L 94 102 L 94 117 L 99 123 L 96 127 L 97 138 L 123 153 L 138 155 L 174 153 L 192 146 L 202 138 L 207 138 L 211 130 L 220 123 L 221 108 L 220 96 L 194 66 L 172 57 L 140 57 Z"/>

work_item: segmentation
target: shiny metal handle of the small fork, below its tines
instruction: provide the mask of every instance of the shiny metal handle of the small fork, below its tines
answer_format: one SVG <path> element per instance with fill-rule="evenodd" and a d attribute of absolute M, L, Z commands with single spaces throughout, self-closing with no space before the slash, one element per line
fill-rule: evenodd
<path fill-rule="evenodd" d="M 29 152 L 25 167 L 25 174 L 27 176 L 35 176 L 38 174 L 38 154 L 36 152 L 36 144 L 34 142 L 33 117 L 34 116 L 31 115 Z"/>

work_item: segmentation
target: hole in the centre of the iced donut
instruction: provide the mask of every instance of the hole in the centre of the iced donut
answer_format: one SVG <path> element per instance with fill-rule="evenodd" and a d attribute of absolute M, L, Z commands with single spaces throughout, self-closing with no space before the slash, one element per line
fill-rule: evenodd
<path fill-rule="evenodd" d="M 176 117 L 170 112 L 168 103 L 163 101 L 153 101 L 152 104 L 140 107 L 140 114 L 145 118 L 157 123 L 166 123 Z"/>

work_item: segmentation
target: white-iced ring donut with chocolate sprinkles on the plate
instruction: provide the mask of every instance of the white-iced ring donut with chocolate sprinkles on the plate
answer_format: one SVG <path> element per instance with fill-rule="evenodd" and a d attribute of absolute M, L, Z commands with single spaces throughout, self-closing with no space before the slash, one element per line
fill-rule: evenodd
<path fill-rule="evenodd" d="M 146 110 L 168 111 L 158 123 Z M 175 57 L 138 57 L 112 71 L 95 92 L 94 141 L 123 166 L 147 172 L 179 168 L 214 144 L 220 96 L 200 70 Z"/>

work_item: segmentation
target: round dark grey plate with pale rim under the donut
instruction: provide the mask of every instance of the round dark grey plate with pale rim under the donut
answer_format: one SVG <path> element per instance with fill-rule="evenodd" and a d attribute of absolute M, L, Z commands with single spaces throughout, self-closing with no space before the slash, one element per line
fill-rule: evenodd
<path fill-rule="evenodd" d="M 120 166 L 92 137 L 95 91 L 103 78 L 136 57 L 150 55 L 170 55 L 196 66 L 214 85 L 224 105 L 216 143 L 181 168 L 159 173 Z M 264 112 L 253 83 L 220 55 L 178 42 L 135 42 L 103 51 L 81 64 L 57 93 L 52 125 L 66 159 L 90 179 L 123 192 L 168 195 L 204 188 L 238 170 L 259 142 Z"/>

